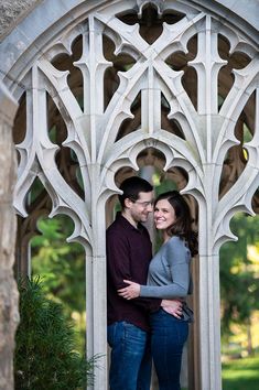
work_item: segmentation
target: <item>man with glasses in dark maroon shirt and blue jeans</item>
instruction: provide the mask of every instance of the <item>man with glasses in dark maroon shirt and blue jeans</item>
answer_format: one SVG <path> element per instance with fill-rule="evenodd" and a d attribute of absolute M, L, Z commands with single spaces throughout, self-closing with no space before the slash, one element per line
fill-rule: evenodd
<path fill-rule="evenodd" d="M 110 390 L 149 390 L 151 355 L 149 313 L 169 305 L 155 299 L 123 300 L 118 290 L 123 280 L 145 284 L 152 243 L 141 223 L 152 212 L 153 187 L 133 176 L 125 180 L 119 195 L 121 214 L 107 229 L 108 343 L 111 347 Z M 171 313 L 181 315 L 181 304 L 171 303 Z M 168 308 L 166 308 L 168 310 Z"/>

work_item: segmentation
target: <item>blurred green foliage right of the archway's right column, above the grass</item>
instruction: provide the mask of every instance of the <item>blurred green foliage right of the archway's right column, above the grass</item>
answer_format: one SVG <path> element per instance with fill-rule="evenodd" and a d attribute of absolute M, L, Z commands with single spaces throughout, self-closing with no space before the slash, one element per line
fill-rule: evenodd
<path fill-rule="evenodd" d="M 249 324 L 251 312 L 259 308 L 257 271 L 248 257 L 248 246 L 259 246 L 259 219 L 238 214 L 231 230 L 237 242 L 225 243 L 220 250 L 220 293 L 223 333 L 230 333 L 230 324 Z"/>

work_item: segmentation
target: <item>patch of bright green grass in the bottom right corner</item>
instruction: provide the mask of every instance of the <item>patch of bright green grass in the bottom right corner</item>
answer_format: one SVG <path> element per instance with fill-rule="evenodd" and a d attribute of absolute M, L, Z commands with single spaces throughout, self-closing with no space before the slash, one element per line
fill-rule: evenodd
<path fill-rule="evenodd" d="M 259 355 L 223 364 L 223 390 L 244 389 L 259 389 Z"/>

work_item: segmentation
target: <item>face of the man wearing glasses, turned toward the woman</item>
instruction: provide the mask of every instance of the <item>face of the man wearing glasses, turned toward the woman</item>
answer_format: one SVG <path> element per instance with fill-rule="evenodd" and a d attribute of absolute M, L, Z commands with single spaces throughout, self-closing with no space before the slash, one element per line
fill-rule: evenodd
<path fill-rule="evenodd" d="M 131 201 L 129 212 L 136 223 L 145 223 L 149 214 L 153 210 L 153 191 L 139 193 L 138 201 Z"/>

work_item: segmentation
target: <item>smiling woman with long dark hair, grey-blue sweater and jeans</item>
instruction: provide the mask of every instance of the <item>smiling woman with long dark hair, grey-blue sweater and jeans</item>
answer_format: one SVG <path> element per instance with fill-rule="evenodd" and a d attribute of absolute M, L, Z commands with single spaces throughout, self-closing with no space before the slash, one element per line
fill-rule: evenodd
<path fill-rule="evenodd" d="M 196 253 L 197 238 L 191 229 L 188 206 L 177 191 L 161 194 L 154 202 L 154 223 L 162 231 L 163 245 L 150 262 L 148 284 L 125 281 L 129 286 L 119 295 L 175 299 L 191 293 L 191 258 Z M 181 360 L 188 335 L 191 311 L 184 305 L 180 318 L 163 308 L 150 316 L 151 348 L 160 390 L 180 390 Z"/>

